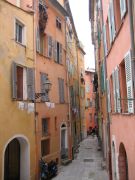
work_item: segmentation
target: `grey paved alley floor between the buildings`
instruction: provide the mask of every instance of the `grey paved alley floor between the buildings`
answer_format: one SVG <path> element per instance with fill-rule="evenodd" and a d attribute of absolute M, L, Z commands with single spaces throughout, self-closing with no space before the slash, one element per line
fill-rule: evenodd
<path fill-rule="evenodd" d="M 101 168 L 101 151 L 97 148 L 96 137 L 83 140 L 77 158 L 69 165 L 61 166 L 54 180 L 108 180 L 106 170 Z"/>

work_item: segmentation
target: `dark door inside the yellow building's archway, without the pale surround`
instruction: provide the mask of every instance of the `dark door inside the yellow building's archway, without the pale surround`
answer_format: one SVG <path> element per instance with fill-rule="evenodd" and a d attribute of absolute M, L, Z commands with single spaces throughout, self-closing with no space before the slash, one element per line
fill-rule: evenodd
<path fill-rule="evenodd" d="M 4 158 L 4 180 L 20 179 L 20 143 L 15 138 L 7 146 Z"/>

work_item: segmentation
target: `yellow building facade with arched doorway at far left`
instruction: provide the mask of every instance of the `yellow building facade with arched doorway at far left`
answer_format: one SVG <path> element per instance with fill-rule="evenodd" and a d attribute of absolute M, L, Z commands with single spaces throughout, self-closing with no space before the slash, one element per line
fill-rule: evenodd
<path fill-rule="evenodd" d="M 0 179 L 35 179 L 33 15 L 0 1 Z"/>

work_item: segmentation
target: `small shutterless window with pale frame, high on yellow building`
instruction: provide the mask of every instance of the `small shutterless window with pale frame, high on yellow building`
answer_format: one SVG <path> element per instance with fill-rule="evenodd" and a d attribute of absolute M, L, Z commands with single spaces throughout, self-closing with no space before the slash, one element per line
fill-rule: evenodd
<path fill-rule="evenodd" d="M 15 40 L 24 45 L 24 25 L 16 20 L 15 22 Z"/>

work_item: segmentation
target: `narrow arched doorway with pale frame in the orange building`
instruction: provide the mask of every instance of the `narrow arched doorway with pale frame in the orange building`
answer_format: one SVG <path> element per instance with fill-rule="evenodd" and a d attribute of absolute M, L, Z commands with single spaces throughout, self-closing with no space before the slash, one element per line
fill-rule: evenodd
<path fill-rule="evenodd" d="M 68 158 L 68 140 L 67 127 L 65 124 L 61 126 L 61 159 Z"/>

